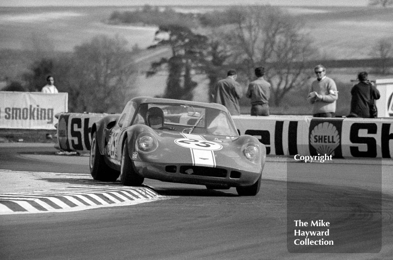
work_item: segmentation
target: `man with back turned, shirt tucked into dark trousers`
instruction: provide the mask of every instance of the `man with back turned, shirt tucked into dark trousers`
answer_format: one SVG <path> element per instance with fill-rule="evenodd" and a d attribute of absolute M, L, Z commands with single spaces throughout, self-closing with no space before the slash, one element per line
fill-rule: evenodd
<path fill-rule="evenodd" d="M 267 82 L 263 75 L 265 68 L 255 68 L 255 76 L 257 79 L 249 84 L 247 90 L 247 97 L 251 98 L 251 115 L 252 116 L 269 116 L 269 98 L 270 98 L 270 83 Z"/>

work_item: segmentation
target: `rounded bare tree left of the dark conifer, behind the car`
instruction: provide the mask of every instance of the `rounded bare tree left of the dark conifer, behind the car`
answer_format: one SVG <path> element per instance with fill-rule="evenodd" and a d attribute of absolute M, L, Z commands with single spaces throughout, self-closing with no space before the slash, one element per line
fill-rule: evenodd
<path fill-rule="evenodd" d="M 132 97 L 135 68 L 126 45 L 118 36 L 101 35 L 75 47 L 73 91 L 84 111 L 119 113 Z"/>

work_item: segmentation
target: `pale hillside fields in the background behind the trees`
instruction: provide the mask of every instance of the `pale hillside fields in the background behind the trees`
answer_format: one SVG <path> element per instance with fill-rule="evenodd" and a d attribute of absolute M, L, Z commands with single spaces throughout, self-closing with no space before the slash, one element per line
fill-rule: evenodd
<path fill-rule="evenodd" d="M 156 26 L 151 25 L 111 25 L 106 23 L 115 10 L 134 10 L 136 7 L 0 7 L 0 81 L 5 77 L 20 80 L 23 72 L 36 58 L 28 51 L 33 50 L 32 38 L 38 37 L 51 42 L 55 51 L 69 52 L 77 45 L 89 41 L 99 34 L 124 37 L 128 47 L 138 45 L 145 48 L 153 43 Z M 214 6 L 174 6 L 181 12 L 206 12 Z M 223 8 L 222 6 L 220 8 Z M 370 58 L 370 50 L 376 41 L 384 37 L 393 37 L 393 8 L 372 7 L 282 7 L 289 14 L 296 15 L 305 22 L 306 32 L 314 38 L 315 46 L 321 51 L 321 59 L 364 59 Z M 149 61 L 159 60 L 162 52 Z M 141 65 L 141 73 L 147 70 L 149 63 Z M 312 74 L 310 68 L 310 75 Z M 356 79 L 359 71 L 370 71 L 370 78 L 391 78 L 393 75 L 378 75 L 367 67 L 363 68 L 328 68 L 327 75 L 340 85 L 339 115 L 346 115 L 351 79 Z M 223 75 L 225 76 L 225 75 Z M 207 80 L 197 75 L 197 100 L 206 101 Z M 140 95 L 160 95 L 165 90 L 166 75 L 161 73 L 146 79 L 138 77 Z M 245 86 L 246 88 L 246 86 Z M 291 93 L 279 108 L 271 108 L 272 114 L 307 114 L 309 104 L 304 90 Z M 306 93 L 305 93 L 306 90 Z M 348 92 L 348 93 L 346 93 Z M 340 100 L 341 99 L 341 100 Z M 247 100 L 242 102 L 243 113 L 249 113 Z"/>

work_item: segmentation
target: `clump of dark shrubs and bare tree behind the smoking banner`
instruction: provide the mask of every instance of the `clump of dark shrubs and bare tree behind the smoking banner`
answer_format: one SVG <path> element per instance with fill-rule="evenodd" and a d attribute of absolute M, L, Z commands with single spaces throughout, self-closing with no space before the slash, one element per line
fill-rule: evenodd
<path fill-rule="evenodd" d="M 41 91 L 48 75 L 59 92 L 68 93 L 70 112 L 118 113 L 133 97 L 136 69 L 134 53 L 119 36 L 99 35 L 74 47 L 72 53 L 40 53 L 23 74 L 25 86 L 11 82 L 9 91 Z M 131 92 L 130 92 L 131 90 Z"/>

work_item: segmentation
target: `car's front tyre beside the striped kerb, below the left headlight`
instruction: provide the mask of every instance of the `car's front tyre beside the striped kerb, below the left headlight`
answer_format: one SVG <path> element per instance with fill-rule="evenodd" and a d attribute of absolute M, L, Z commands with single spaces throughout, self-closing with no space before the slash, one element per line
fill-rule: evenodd
<path fill-rule="evenodd" d="M 123 145 L 123 153 L 121 155 L 120 181 L 125 186 L 140 186 L 144 178 L 135 172 L 130 154 L 127 148 L 127 140 Z"/>

